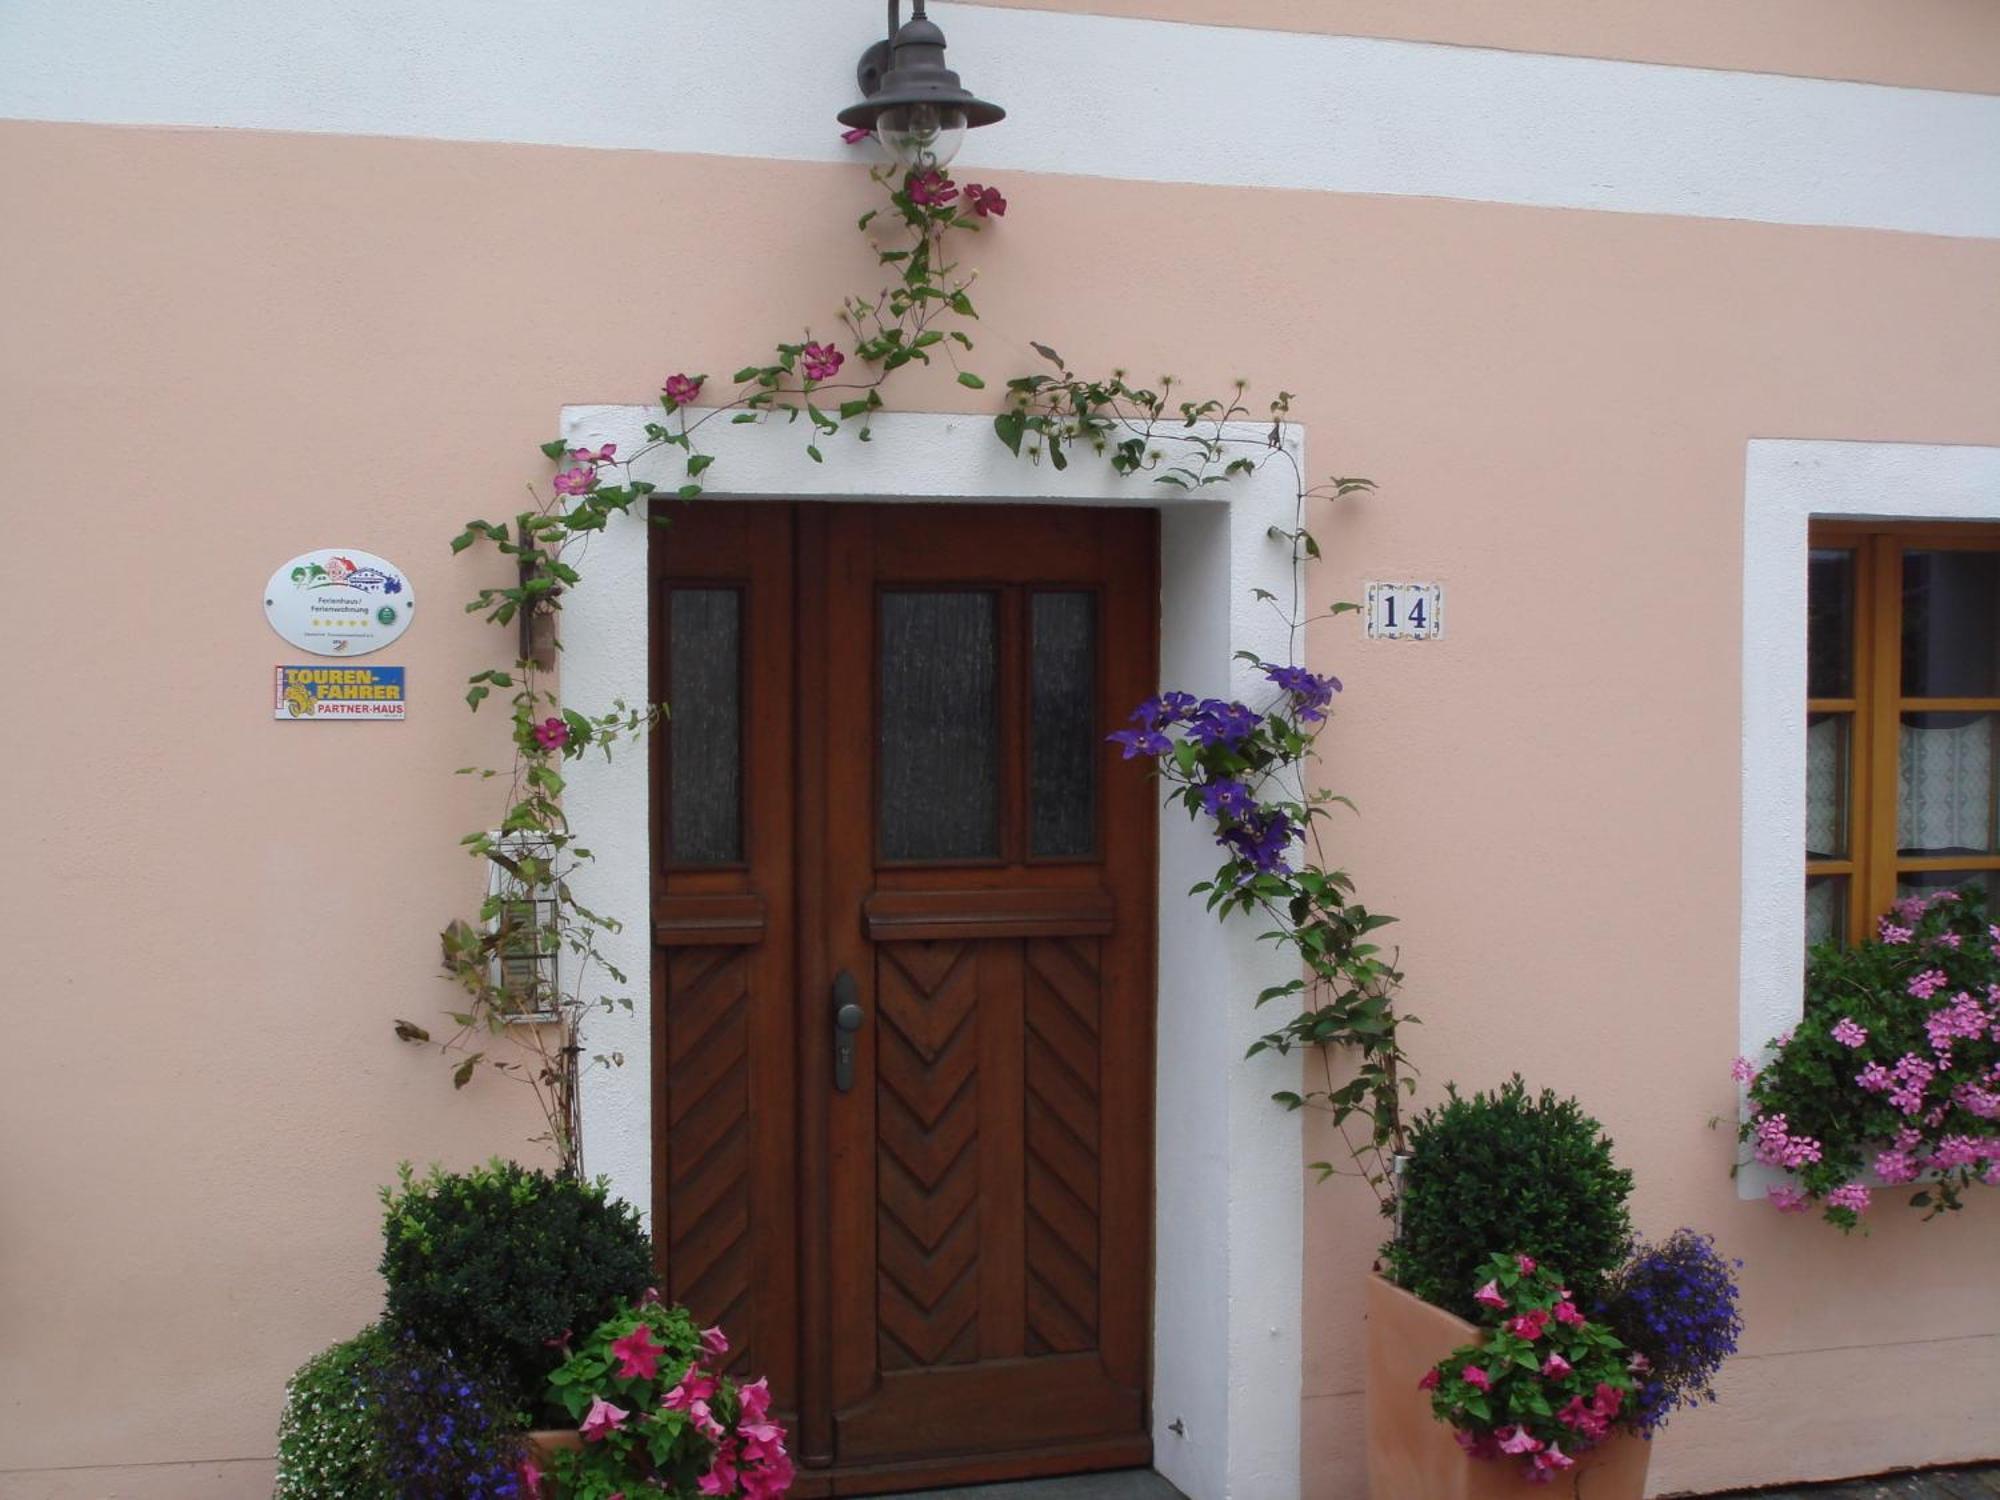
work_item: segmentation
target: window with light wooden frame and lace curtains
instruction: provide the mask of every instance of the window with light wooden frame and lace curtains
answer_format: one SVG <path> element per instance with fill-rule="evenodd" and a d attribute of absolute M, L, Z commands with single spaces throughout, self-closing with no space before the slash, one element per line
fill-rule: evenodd
<path fill-rule="evenodd" d="M 1806 942 L 1968 886 L 2000 890 L 2000 528 L 1816 522 Z"/>

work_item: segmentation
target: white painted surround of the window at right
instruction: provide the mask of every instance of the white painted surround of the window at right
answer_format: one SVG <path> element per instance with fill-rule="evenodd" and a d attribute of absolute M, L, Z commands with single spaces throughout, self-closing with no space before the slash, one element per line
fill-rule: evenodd
<path fill-rule="evenodd" d="M 1742 952 L 1738 1050 L 1804 1012 L 1806 528 L 1816 516 L 2000 520 L 2000 448 L 1756 438 L 1744 470 Z M 1738 1194 L 1762 1198 L 1770 1168 Z"/>

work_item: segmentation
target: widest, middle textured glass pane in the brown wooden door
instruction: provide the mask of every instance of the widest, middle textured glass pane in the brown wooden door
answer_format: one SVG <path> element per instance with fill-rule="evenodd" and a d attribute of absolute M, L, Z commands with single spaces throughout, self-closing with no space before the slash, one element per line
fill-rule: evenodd
<path fill-rule="evenodd" d="M 998 598 L 882 594 L 880 646 L 882 858 L 998 856 Z"/>

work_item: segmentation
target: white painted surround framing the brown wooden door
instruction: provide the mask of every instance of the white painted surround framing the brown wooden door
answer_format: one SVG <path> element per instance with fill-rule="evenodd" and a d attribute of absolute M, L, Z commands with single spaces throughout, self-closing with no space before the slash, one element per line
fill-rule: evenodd
<path fill-rule="evenodd" d="M 570 406 L 562 434 L 576 446 L 646 446 L 658 408 Z M 1238 650 L 1286 656 L 1286 626 L 1252 598 L 1290 598 L 1290 546 L 1270 536 L 1294 522 L 1292 468 L 1274 460 L 1228 484 L 1182 494 L 1118 478 L 1102 462 L 1058 472 L 1008 454 L 986 416 L 884 412 L 872 442 L 822 440 L 802 426 L 716 422 L 712 498 L 926 500 L 974 504 L 1152 506 L 1162 512 L 1160 674 L 1200 694 L 1256 692 Z M 1260 440 L 1268 426 L 1232 436 Z M 1304 464 L 1304 432 L 1284 428 Z M 672 494 L 680 454 L 634 468 Z M 670 532 L 668 532 L 670 536 Z M 614 518 L 590 540 L 586 584 L 564 600 L 564 692 L 576 704 L 646 700 L 646 526 Z M 1134 774 L 1138 770 L 1134 768 Z M 588 1170 L 650 1216 L 650 850 L 646 756 L 584 756 L 568 814 L 596 860 L 572 886 L 586 906 L 626 926 L 602 950 L 632 984 L 630 1014 L 590 1022 L 588 1052 L 624 1052 L 624 1066 L 584 1076 Z M 1280 1500 L 1300 1482 L 1300 1278 L 1304 1160 L 1300 1120 L 1270 1102 L 1294 1088 L 1296 1062 L 1244 1060 L 1260 1034 L 1252 996 L 1296 966 L 1256 942 L 1256 922 L 1218 924 L 1190 906 L 1188 886 L 1214 872 L 1216 852 L 1178 808 L 1160 816 L 1158 1058 L 1154 1170 L 1154 1462 L 1192 1500 Z M 1170 1424 L 1180 1424 L 1180 1432 Z"/>

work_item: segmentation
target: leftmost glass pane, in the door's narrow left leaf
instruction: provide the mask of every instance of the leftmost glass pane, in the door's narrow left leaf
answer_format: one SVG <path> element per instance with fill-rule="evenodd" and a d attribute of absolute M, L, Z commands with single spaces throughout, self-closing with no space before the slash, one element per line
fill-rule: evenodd
<path fill-rule="evenodd" d="M 736 864 L 742 840 L 742 594 L 666 604 L 668 832 L 674 864 Z"/>

